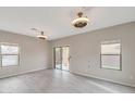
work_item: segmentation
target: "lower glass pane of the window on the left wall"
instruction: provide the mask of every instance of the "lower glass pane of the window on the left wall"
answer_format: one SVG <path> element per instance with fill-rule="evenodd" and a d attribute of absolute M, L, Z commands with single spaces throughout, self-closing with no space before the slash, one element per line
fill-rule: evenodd
<path fill-rule="evenodd" d="M 19 65 L 19 55 L 2 55 L 2 66 Z"/>

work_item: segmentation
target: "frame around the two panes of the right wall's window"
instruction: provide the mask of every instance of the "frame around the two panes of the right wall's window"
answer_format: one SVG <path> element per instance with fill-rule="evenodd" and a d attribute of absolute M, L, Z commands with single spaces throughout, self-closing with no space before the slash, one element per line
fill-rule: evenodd
<path fill-rule="evenodd" d="M 113 43 L 120 43 L 120 54 L 102 54 L 101 53 L 101 47 L 102 45 L 113 45 Z M 120 56 L 120 68 L 109 68 L 109 67 L 103 67 L 102 66 L 102 55 L 119 55 Z M 122 42 L 121 40 L 111 40 L 111 41 L 103 41 L 100 43 L 100 68 L 105 68 L 105 70 L 113 70 L 113 71 L 122 71 Z"/>

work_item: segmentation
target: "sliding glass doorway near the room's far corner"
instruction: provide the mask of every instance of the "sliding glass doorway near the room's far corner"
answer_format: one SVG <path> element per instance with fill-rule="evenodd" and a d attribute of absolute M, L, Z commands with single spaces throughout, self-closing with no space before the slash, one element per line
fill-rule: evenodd
<path fill-rule="evenodd" d="M 54 68 L 69 71 L 70 66 L 70 47 L 54 48 Z"/>

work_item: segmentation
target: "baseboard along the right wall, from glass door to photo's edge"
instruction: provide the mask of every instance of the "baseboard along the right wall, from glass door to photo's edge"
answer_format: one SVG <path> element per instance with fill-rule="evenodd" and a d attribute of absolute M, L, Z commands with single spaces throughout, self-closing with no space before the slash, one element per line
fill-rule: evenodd
<path fill-rule="evenodd" d="M 76 74 L 76 75 L 81 75 L 81 76 L 93 77 L 93 78 L 97 78 L 97 79 L 101 79 L 101 80 L 106 80 L 106 81 L 110 81 L 110 83 L 114 83 L 114 84 L 120 84 L 120 85 L 124 85 L 124 86 L 135 87 L 135 85 L 133 85 L 133 84 L 115 81 L 115 80 L 112 80 L 112 79 L 97 77 L 97 76 L 89 75 L 89 74 L 83 74 L 83 73 L 76 73 L 76 72 L 71 72 L 71 73 Z"/>

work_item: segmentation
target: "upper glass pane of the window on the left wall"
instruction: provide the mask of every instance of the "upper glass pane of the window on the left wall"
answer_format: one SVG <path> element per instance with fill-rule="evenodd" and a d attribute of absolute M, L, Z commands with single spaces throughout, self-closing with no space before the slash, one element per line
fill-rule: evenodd
<path fill-rule="evenodd" d="M 19 54 L 17 46 L 1 46 L 1 54 Z"/>

